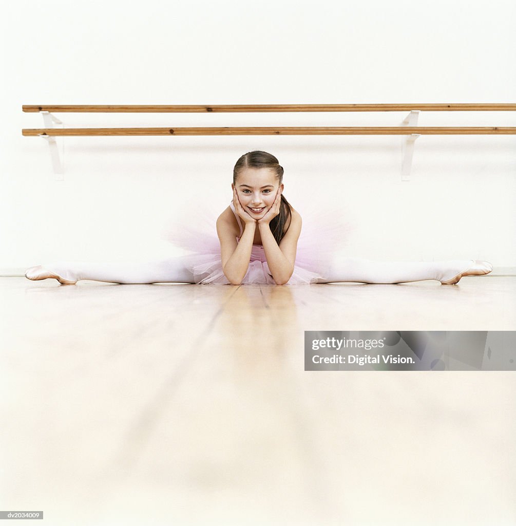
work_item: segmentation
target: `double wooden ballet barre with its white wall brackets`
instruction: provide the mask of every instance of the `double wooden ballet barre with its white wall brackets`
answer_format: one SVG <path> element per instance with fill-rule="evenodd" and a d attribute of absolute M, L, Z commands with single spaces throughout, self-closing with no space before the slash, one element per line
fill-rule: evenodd
<path fill-rule="evenodd" d="M 514 112 L 516 104 L 237 104 L 237 105 L 23 105 L 26 113 L 41 113 L 45 128 L 24 128 L 26 137 L 46 139 L 55 174 L 63 173 L 62 153 L 55 137 L 151 135 L 402 135 L 401 180 L 410 180 L 414 141 L 421 135 L 516 135 L 516 127 L 417 126 L 421 112 Z M 64 128 L 53 113 L 280 113 L 280 112 L 406 112 L 401 126 L 271 126 Z M 61 127 L 54 127 L 58 124 Z M 62 177 L 56 177 L 62 179 Z"/>

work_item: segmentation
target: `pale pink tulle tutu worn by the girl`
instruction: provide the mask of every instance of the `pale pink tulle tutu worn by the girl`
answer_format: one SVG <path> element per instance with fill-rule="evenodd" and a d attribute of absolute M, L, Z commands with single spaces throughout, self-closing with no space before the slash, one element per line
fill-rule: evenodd
<path fill-rule="evenodd" d="M 232 201 L 230 207 L 235 213 Z M 305 210 L 299 210 L 297 207 L 295 209 L 301 214 L 303 222 L 294 272 L 287 285 L 310 284 L 318 279 L 324 279 L 324 269 L 333 254 L 343 248 L 349 226 L 336 212 L 320 210 L 313 206 Z M 198 211 L 196 213 L 199 214 Z M 170 226 L 162 236 L 175 246 L 190 252 L 184 256 L 184 261 L 193 273 L 195 283 L 201 285 L 229 284 L 222 271 L 216 229 L 216 221 L 220 213 L 220 209 L 217 211 L 204 209 L 197 216 L 195 225 L 174 221 L 174 225 Z M 181 214 L 180 217 L 185 215 Z M 249 267 L 242 284 L 276 285 L 267 264 L 264 247 L 261 245 L 252 246 Z"/>

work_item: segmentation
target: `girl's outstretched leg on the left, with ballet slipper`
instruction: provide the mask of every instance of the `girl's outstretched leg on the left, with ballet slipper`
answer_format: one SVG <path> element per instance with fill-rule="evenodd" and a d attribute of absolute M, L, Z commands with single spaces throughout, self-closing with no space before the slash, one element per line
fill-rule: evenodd
<path fill-rule="evenodd" d="M 73 285 L 80 279 L 122 284 L 194 282 L 181 256 L 143 263 L 56 261 L 29 268 L 25 277 L 33 280 L 55 278 L 62 285 Z"/>

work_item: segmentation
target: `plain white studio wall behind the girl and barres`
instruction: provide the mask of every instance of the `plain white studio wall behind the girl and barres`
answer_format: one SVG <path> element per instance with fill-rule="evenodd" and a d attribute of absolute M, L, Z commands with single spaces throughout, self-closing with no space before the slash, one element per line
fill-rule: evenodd
<path fill-rule="evenodd" d="M 349 223 L 351 256 L 516 267 L 516 137 L 69 137 L 65 174 L 22 104 L 509 103 L 516 4 L 22 0 L 4 7 L 0 274 L 57 259 L 154 259 L 180 207 L 222 211 L 232 167 L 262 149 L 285 196 Z M 67 127 L 396 126 L 401 113 L 57 114 Z M 514 113 L 420 125 L 514 126 Z M 321 232 L 322 234 L 322 232 Z"/>

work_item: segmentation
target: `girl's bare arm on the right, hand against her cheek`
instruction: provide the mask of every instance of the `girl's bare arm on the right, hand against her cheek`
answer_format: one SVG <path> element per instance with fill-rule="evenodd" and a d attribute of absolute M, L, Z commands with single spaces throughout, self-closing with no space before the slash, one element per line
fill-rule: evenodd
<path fill-rule="evenodd" d="M 262 219 L 258 220 L 258 228 L 267 264 L 272 272 L 272 278 L 274 278 L 277 285 L 285 285 L 290 276 L 292 276 L 292 272 L 294 272 L 297 241 L 301 233 L 302 221 L 299 214 L 292 213 L 287 233 L 278 245 L 270 230 L 269 222 L 279 213 L 280 198 L 281 194 L 278 193 L 274 205 L 270 208 L 270 215 L 266 214 Z"/>

